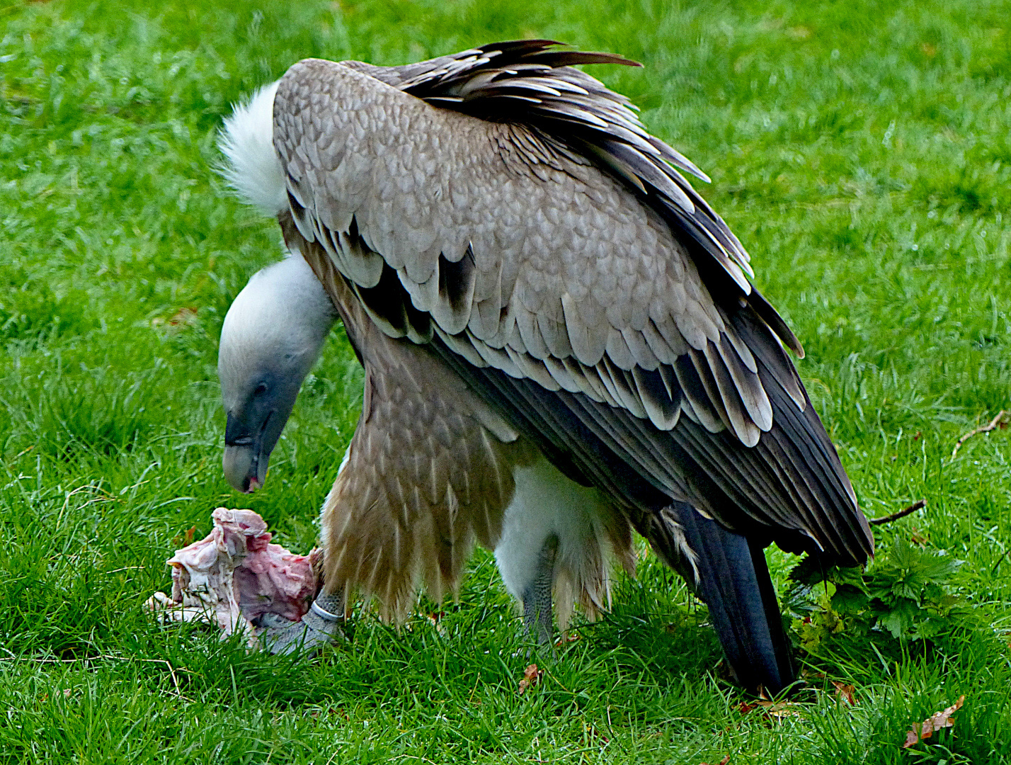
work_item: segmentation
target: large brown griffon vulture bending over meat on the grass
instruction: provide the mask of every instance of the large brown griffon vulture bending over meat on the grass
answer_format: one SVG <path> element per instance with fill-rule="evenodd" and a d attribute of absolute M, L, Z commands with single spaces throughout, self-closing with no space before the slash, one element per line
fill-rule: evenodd
<path fill-rule="evenodd" d="M 325 642 L 347 595 L 402 616 L 494 550 L 539 641 L 609 602 L 632 532 L 706 602 L 744 686 L 795 678 L 763 549 L 859 566 L 874 538 L 749 256 L 630 101 L 496 42 L 378 67 L 307 59 L 225 121 L 226 176 L 290 253 L 222 330 L 224 470 L 263 484 L 335 317 L 365 370 L 321 514 L 324 586 L 273 650 Z M 313 280 L 314 279 L 314 280 Z"/>

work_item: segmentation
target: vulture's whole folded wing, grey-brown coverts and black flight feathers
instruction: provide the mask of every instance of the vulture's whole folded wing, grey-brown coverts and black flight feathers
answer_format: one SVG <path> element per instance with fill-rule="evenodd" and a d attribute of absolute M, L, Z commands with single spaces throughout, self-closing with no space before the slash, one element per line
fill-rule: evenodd
<path fill-rule="evenodd" d="M 705 176 L 568 66 L 628 62 L 551 45 L 293 66 L 274 142 L 300 236 L 573 477 L 862 562 L 800 345 L 678 169 Z"/>

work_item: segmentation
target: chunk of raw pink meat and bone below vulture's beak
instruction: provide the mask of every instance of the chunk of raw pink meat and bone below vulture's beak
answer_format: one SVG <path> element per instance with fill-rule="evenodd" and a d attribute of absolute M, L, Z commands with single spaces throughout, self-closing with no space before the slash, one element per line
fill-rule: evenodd
<path fill-rule="evenodd" d="M 251 622 L 265 614 L 298 621 L 316 592 L 319 550 L 296 556 L 271 544 L 267 524 L 252 510 L 219 507 L 210 534 L 169 559 L 172 597 L 157 592 L 148 604 L 173 621 L 216 623 L 222 636 L 243 631 L 255 644 Z"/>

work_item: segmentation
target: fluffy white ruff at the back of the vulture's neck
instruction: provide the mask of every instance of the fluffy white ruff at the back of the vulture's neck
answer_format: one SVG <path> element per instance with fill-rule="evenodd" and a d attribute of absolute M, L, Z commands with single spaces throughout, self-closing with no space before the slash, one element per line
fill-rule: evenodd
<path fill-rule="evenodd" d="M 249 100 L 237 104 L 232 116 L 224 118 L 218 140 L 227 161 L 223 175 L 228 185 L 243 201 L 271 217 L 288 207 L 284 169 L 274 151 L 277 84 L 264 85 Z"/>

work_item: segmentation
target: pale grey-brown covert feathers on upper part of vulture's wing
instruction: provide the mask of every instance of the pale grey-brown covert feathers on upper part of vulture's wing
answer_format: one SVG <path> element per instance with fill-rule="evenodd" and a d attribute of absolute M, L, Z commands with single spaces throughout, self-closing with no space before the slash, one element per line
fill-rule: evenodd
<path fill-rule="evenodd" d="M 715 359 L 706 409 L 722 413 L 722 427 L 745 443 L 768 429 L 757 377 L 707 353 L 734 330 L 670 227 L 545 137 L 309 60 L 278 88 L 275 143 L 302 235 L 359 287 L 379 283 L 383 263 L 395 269 L 412 307 L 446 335 L 465 334 L 484 363 L 549 389 L 575 387 L 663 427 L 675 418 L 662 412 L 684 400 L 658 401 L 654 388 L 647 405 L 634 377 L 613 369 L 631 373 L 644 361 L 651 371 L 694 348 Z M 345 173 L 359 177 L 335 179 Z M 380 324 L 402 334 L 401 320 Z M 562 367 L 548 356 L 573 357 L 579 373 L 569 365 L 553 374 Z"/>

